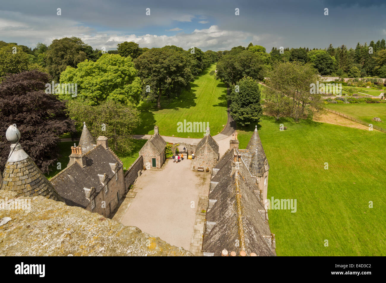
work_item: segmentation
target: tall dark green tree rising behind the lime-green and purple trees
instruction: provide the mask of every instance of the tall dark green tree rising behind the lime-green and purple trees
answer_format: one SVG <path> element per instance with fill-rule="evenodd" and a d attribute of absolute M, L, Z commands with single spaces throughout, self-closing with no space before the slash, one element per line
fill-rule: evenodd
<path fill-rule="evenodd" d="M 86 44 L 78 37 L 64 37 L 52 40 L 47 50 L 47 69 L 55 81 L 59 81 L 60 73 L 67 66 L 76 67 L 78 63 L 87 59 Z"/>

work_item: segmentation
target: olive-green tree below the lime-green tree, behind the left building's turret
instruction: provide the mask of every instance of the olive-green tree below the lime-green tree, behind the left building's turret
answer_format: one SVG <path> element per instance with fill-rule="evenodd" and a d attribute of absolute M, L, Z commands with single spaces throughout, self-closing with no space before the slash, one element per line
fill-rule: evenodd
<path fill-rule="evenodd" d="M 109 147 L 120 154 L 127 154 L 132 149 L 130 135 L 141 122 L 139 111 L 135 107 L 112 100 L 96 106 L 74 101 L 68 106 L 68 115 L 78 121 L 79 125 L 86 122 L 87 128 L 94 137 L 106 136 Z M 105 124 L 104 131 L 102 131 L 102 124 Z"/>

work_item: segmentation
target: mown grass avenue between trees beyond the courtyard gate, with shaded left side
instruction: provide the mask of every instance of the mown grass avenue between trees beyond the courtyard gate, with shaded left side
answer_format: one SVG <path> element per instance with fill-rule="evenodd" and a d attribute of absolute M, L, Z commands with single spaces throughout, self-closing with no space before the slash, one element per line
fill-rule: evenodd
<path fill-rule="evenodd" d="M 202 132 L 178 132 L 177 123 L 183 123 L 184 120 L 192 123 L 208 122 L 213 136 L 221 132 L 223 125 L 227 124 L 227 88 L 209 74 L 215 68 L 216 66 L 212 65 L 196 77 L 191 83 L 191 91 L 183 91 L 172 101 L 161 99 L 160 110 L 156 108 L 155 103 L 142 102 L 138 107 L 142 123 L 137 127 L 135 134 L 152 134 L 154 125 L 157 125 L 160 135 L 183 138 L 203 136 Z"/>

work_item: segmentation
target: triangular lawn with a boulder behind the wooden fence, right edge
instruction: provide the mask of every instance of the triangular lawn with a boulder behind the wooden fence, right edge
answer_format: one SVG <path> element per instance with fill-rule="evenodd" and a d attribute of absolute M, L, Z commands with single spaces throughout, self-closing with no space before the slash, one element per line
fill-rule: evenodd
<path fill-rule="evenodd" d="M 369 124 L 386 128 L 386 103 L 330 103 L 326 104 L 326 107 Z M 382 122 L 372 121 L 374 117 L 381 118 Z"/>

